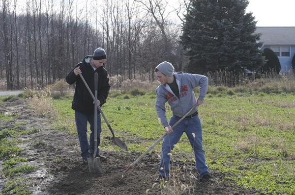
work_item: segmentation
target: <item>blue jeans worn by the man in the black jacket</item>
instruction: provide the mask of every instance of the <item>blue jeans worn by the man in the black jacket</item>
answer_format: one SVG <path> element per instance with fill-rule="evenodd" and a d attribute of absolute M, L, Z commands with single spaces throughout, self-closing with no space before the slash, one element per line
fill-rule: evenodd
<path fill-rule="evenodd" d="M 87 158 L 90 156 L 90 153 L 94 152 L 94 113 L 86 114 L 79 111 L 75 111 L 75 121 L 78 131 L 78 137 L 81 147 L 81 156 Z M 90 146 L 88 144 L 87 138 L 87 122 L 90 124 Z M 101 119 L 100 113 L 97 114 L 97 146 L 100 144 L 100 133 L 101 133 Z M 90 148 L 89 148 L 90 147 Z M 90 149 L 90 150 L 89 150 Z M 99 148 L 97 148 L 97 153 Z"/>

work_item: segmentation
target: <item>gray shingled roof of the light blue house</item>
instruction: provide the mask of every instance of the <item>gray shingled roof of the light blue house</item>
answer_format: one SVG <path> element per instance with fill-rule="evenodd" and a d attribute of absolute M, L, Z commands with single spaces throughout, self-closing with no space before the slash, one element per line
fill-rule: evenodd
<path fill-rule="evenodd" d="M 256 27 L 256 33 L 261 33 L 264 45 L 295 45 L 295 26 Z"/>

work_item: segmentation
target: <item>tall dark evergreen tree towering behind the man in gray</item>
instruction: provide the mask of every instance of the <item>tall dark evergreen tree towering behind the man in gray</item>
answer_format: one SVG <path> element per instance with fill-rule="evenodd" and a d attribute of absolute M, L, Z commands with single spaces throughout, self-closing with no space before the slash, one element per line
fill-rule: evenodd
<path fill-rule="evenodd" d="M 255 70 L 263 64 L 259 34 L 248 0 L 191 0 L 181 43 L 189 56 L 188 70 Z"/>

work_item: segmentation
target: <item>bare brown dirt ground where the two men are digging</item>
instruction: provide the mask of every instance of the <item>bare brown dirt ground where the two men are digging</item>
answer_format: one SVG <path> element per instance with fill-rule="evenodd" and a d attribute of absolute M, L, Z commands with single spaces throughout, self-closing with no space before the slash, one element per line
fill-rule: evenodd
<path fill-rule="evenodd" d="M 105 173 L 94 175 L 88 172 L 87 164 L 82 162 L 78 138 L 65 131 L 57 131 L 52 122 L 34 114 L 28 109 L 28 102 L 14 97 L 1 102 L 0 113 L 15 114 L 13 121 L 1 122 L 0 130 L 14 128 L 19 130 L 38 129 L 36 133 L 23 135 L 23 148 L 20 157 L 28 158 L 29 164 L 37 169 L 34 172 L 15 177 L 29 178 L 29 190 L 40 195 L 143 195 L 143 194 L 195 194 L 195 195 L 252 195 L 259 192 L 253 189 L 242 189 L 225 174 L 211 170 L 213 182 L 201 182 L 194 178 L 197 173 L 192 163 L 173 162 L 174 167 L 181 169 L 179 177 L 171 179 L 166 187 L 154 184 L 159 164 L 158 154 L 151 152 L 140 163 L 126 174 L 123 184 L 118 184 L 116 177 L 130 165 L 140 153 L 102 151 L 107 162 L 102 162 Z M 26 125 L 16 125 L 23 123 Z M 106 138 L 102 138 L 106 139 Z M 126 139 L 128 140 L 128 139 Z M 128 142 L 140 142 L 130 140 Z M 34 145 L 34 147 L 32 147 Z M 185 168 L 183 166 L 185 165 Z M 10 178 L 12 179 L 12 178 Z M 15 178 L 13 178 L 15 179 Z M 4 186 L 7 178 L 1 177 L 0 185 Z M 175 182 L 175 183 L 174 183 Z M 183 184 L 183 185 L 182 185 Z M 173 186 L 178 186 L 177 189 Z M 181 187 L 182 186 L 182 187 Z M 170 191 L 171 190 L 171 191 Z M 174 192 L 173 192 L 174 191 Z M 0 193 L 1 194 L 1 193 Z"/>

